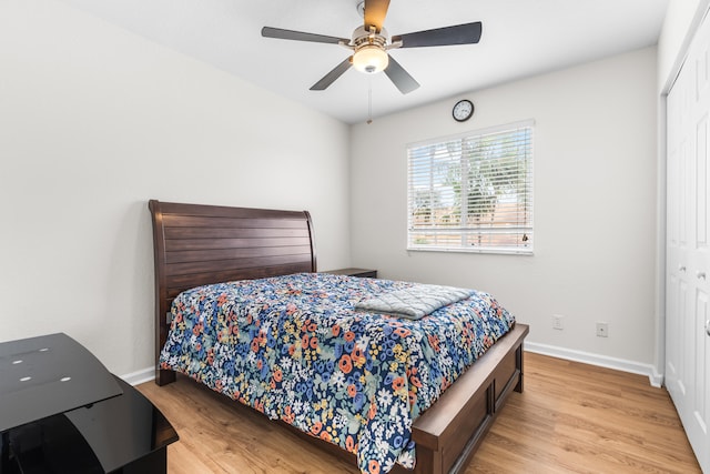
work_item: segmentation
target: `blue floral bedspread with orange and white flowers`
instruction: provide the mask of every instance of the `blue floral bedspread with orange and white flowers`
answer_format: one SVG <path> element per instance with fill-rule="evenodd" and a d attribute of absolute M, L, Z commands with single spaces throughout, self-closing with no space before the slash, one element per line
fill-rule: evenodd
<path fill-rule="evenodd" d="M 418 321 L 354 310 L 412 285 L 300 273 L 181 293 L 160 364 L 357 455 L 414 467 L 413 421 L 515 319 L 489 294 Z"/>

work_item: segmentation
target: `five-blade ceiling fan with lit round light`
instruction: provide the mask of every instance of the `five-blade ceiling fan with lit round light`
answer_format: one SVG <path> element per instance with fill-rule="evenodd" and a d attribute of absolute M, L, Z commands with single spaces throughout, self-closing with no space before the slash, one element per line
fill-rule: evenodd
<path fill-rule="evenodd" d="M 262 37 L 283 40 L 311 41 L 316 43 L 339 44 L 353 51 L 353 54 L 336 65 L 323 79 L 311 87 L 312 91 L 327 89 L 337 78 L 351 67 L 361 72 L 374 74 L 385 71 L 385 74 L 403 94 L 419 87 L 419 83 L 397 62 L 387 51 L 396 48 L 422 48 L 450 44 L 474 44 L 480 40 L 480 21 L 437 28 L 434 30 L 416 31 L 407 34 L 389 37 L 383 27 L 389 0 L 365 0 L 358 4 L 364 9 L 365 22 L 353 31 L 352 38 L 336 38 L 323 34 L 305 33 L 302 31 L 283 30 L 280 28 L 262 28 Z"/>

